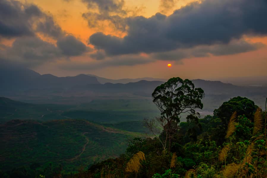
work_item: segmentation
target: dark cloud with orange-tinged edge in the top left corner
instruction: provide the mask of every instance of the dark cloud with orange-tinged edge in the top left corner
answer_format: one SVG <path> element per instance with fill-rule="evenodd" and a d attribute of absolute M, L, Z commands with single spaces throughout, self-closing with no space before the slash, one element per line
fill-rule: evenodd
<path fill-rule="evenodd" d="M 34 4 L 1 0 L 0 17 L 0 36 L 2 37 L 33 36 L 36 31 L 53 38 L 64 34 L 53 17 L 42 12 Z"/>

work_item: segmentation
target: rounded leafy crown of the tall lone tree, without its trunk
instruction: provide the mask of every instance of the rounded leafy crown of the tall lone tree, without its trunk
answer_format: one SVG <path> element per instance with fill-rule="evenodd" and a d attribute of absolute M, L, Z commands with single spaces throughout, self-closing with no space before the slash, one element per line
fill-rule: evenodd
<path fill-rule="evenodd" d="M 181 113 L 195 115 L 195 109 L 203 108 L 203 96 L 201 88 L 195 88 L 192 81 L 179 77 L 169 79 L 152 93 L 153 102 L 159 108 L 161 117 L 177 123 L 180 122 Z"/>

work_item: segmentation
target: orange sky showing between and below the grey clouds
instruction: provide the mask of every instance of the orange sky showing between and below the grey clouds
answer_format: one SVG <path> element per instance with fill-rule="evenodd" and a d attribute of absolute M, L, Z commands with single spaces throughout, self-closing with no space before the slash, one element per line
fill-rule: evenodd
<path fill-rule="evenodd" d="M 37 4 L 43 11 L 51 13 L 64 31 L 81 39 L 86 45 L 89 36 L 97 32 L 96 29 L 90 29 L 87 21 L 82 18 L 82 14 L 87 11 L 87 7 L 80 0 L 69 0 L 69 2 L 64 0 L 20 1 Z M 193 0 L 177 0 L 176 6 L 173 9 L 170 9 L 166 15 L 170 15 L 174 9 L 178 9 L 191 1 Z M 125 4 L 127 8 L 143 7 L 142 11 L 139 12 L 139 15 L 145 17 L 150 17 L 160 11 L 159 0 L 125 0 Z M 102 32 L 116 36 L 125 35 L 108 27 Z M 262 42 L 267 45 L 267 37 L 247 37 L 246 39 L 249 39 L 252 42 Z M 146 54 L 144 53 L 141 54 L 142 57 L 145 55 Z M 69 60 L 74 63 L 75 61 L 92 61 L 88 55 L 75 58 L 72 57 Z M 58 63 L 60 63 L 60 61 Z M 172 64 L 171 68 L 167 67 L 168 63 Z M 217 77 L 267 76 L 266 66 L 267 47 L 263 47 L 248 53 L 217 57 L 190 58 L 183 59 L 178 63 L 175 63 L 174 61 L 156 61 L 135 66 L 109 66 L 95 70 L 64 70 L 58 68 L 54 63 L 46 63 L 33 69 L 41 74 L 51 73 L 57 76 L 90 73 L 113 79 L 138 77 L 170 78 L 176 76 L 190 79 L 216 79 Z"/>

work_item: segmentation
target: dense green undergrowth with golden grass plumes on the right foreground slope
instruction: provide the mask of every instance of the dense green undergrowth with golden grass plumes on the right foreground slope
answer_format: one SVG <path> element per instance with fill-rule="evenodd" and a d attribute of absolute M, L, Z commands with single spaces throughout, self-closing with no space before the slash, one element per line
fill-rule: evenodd
<path fill-rule="evenodd" d="M 170 151 L 163 150 L 156 138 L 135 138 L 119 158 L 72 177 L 267 177 L 266 108 L 236 97 L 215 110 L 214 116 L 187 120 L 180 126 Z M 144 158 L 136 159 L 140 152 Z"/>

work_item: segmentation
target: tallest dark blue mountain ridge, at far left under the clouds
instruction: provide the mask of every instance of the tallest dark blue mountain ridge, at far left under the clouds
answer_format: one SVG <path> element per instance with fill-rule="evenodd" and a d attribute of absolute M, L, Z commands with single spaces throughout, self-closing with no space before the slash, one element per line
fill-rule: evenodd
<path fill-rule="evenodd" d="M 75 85 L 100 84 L 96 77 L 80 74 L 74 77 L 41 75 L 18 66 L 0 67 L 0 90 L 25 90 L 30 88 L 71 88 Z"/>

